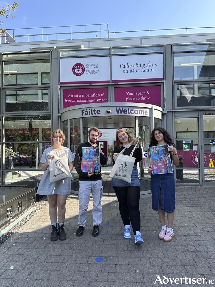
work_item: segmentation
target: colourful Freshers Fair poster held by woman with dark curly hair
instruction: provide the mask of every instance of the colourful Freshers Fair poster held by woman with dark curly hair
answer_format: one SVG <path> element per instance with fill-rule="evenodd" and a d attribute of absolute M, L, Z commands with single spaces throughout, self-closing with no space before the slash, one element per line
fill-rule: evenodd
<path fill-rule="evenodd" d="M 152 174 L 173 173 L 168 145 L 149 147 Z"/>

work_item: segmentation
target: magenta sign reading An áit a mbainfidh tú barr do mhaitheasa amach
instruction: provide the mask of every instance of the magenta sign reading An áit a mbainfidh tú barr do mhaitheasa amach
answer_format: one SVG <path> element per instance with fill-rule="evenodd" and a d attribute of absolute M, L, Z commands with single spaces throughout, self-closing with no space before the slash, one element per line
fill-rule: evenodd
<path fill-rule="evenodd" d="M 64 109 L 83 104 L 108 102 L 108 88 L 63 89 Z"/>

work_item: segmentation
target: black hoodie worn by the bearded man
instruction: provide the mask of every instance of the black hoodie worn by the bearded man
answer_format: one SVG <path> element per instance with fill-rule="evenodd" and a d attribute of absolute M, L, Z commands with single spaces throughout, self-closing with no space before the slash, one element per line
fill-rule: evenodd
<path fill-rule="evenodd" d="M 92 144 L 90 142 L 84 142 L 80 144 L 76 150 L 75 154 L 75 169 L 79 174 L 79 180 L 101 180 L 101 165 L 105 165 L 108 161 L 107 157 L 103 153 L 99 153 L 99 160 L 100 160 L 100 172 L 94 172 L 90 177 L 88 177 L 88 172 L 81 171 L 81 157 L 82 157 L 82 147 L 90 147 Z"/>

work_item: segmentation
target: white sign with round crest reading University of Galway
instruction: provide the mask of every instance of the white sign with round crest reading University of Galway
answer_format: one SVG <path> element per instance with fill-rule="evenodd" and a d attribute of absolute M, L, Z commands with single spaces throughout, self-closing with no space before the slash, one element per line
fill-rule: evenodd
<path fill-rule="evenodd" d="M 109 83 L 109 57 L 60 59 L 60 82 L 61 84 Z"/>

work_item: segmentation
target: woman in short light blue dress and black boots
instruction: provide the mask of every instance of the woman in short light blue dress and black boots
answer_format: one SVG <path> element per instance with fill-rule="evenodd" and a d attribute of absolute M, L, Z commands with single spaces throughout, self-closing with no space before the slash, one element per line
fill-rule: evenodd
<path fill-rule="evenodd" d="M 66 198 L 70 191 L 70 177 L 62 180 L 49 183 L 49 159 L 65 153 L 68 157 L 68 166 L 70 172 L 73 169 L 74 156 L 70 149 L 62 146 L 65 141 L 65 135 L 62 130 L 54 130 L 51 134 L 53 145 L 44 150 L 41 157 L 42 170 L 44 174 L 41 178 L 37 189 L 37 194 L 47 195 L 49 201 L 49 216 L 52 225 L 51 241 L 66 239 L 65 233 L 65 213 L 66 213 Z M 58 218 L 58 227 L 57 227 Z"/>

